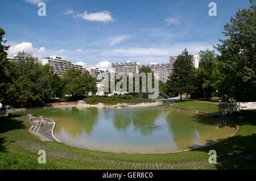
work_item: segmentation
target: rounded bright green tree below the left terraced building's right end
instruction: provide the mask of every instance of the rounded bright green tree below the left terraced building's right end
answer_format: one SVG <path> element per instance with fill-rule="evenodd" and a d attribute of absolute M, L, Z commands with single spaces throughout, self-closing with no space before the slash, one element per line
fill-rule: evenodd
<path fill-rule="evenodd" d="M 70 94 L 77 99 L 88 96 L 89 92 L 97 92 L 96 78 L 90 75 L 89 71 L 82 73 L 81 70 L 71 68 L 63 75 L 64 93 Z"/>

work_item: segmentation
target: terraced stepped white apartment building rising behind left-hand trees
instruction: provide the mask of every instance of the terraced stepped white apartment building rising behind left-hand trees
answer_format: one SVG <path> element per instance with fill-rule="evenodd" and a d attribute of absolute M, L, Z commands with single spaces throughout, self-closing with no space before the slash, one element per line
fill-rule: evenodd
<path fill-rule="evenodd" d="M 86 71 L 86 69 L 81 65 L 73 64 L 71 60 L 64 60 L 61 56 L 50 56 L 49 58 L 40 60 L 40 62 L 42 65 L 51 65 L 54 72 L 61 77 L 68 71 L 68 69 L 71 69 L 72 67 L 75 67 L 82 72 Z"/>

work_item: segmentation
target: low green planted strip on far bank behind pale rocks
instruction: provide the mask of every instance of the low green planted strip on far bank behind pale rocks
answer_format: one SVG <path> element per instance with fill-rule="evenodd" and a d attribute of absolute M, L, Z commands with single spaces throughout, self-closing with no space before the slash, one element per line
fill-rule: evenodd
<path fill-rule="evenodd" d="M 138 103 L 154 103 L 155 100 L 146 98 L 133 98 L 131 95 L 113 95 L 113 96 L 89 96 L 84 99 L 88 104 L 103 103 L 105 105 L 114 105 L 118 103 L 138 104 Z"/>

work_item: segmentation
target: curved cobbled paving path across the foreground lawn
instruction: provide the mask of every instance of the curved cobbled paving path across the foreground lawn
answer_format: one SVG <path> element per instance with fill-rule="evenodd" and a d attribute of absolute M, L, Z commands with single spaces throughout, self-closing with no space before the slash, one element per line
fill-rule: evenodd
<path fill-rule="evenodd" d="M 221 165 L 209 163 L 208 160 L 204 161 L 192 161 L 192 162 L 182 162 L 182 163 L 139 163 L 139 162 L 125 162 L 125 161 L 115 161 L 106 158 L 99 158 L 93 156 L 87 156 L 77 153 L 72 153 L 71 151 L 62 150 L 51 145 L 44 145 L 40 142 L 33 142 L 30 140 L 20 140 L 16 141 L 23 149 L 29 150 L 32 153 L 37 154 L 38 150 L 45 150 L 48 159 L 60 159 L 61 162 L 77 162 L 79 163 L 98 163 L 102 166 L 113 167 L 113 169 L 221 169 L 221 165 L 230 165 L 236 163 L 237 161 L 245 159 L 255 159 L 256 151 L 251 154 L 240 155 L 232 157 L 229 159 L 222 159 L 218 162 Z"/>

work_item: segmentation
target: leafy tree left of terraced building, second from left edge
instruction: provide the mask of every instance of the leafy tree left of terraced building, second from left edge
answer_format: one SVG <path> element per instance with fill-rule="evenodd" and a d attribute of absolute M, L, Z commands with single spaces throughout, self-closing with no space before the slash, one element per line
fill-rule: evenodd
<path fill-rule="evenodd" d="M 15 57 L 16 71 L 28 81 L 24 87 L 24 102 L 27 106 L 42 104 L 42 100 L 52 98 L 52 89 L 43 65 L 32 54 L 19 52 Z"/>

